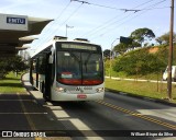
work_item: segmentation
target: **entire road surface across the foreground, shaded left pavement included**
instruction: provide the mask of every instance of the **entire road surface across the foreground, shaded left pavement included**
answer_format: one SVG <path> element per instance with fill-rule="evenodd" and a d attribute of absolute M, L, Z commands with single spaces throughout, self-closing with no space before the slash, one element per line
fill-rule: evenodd
<path fill-rule="evenodd" d="M 37 91 L 1 93 L 0 126 L 2 131 L 45 131 L 65 139 L 173 140 L 176 138 L 152 136 L 176 132 L 176 107 L 111 92 L 106 92 L 105 101 L 86 103 L 44 102 Z M 136 137 L 146 132 L 151 137 Z M 135 137 L 125 137 L 129 135 Z"/>

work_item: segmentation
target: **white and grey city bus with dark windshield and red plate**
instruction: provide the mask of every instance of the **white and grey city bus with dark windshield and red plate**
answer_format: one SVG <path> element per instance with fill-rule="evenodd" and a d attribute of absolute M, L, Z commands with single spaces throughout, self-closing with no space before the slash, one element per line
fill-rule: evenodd
<path fill-rule="evenodd" d="M 102 50 L 87 39 L 55 36 L 33 54 L 30 66 L 30 82 L 45 101 L 105 97 Z"/>

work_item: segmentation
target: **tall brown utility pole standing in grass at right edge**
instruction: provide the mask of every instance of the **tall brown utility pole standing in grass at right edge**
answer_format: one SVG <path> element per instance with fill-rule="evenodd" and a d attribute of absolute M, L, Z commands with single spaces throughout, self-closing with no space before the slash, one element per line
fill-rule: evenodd
<path fill-rule="evenodd" d="M 167 79 L 167 95 L 172 101 L 172 66 L 173 66 L 173 32 L 174 32 L 174 0 L 170 5 L 170 25 L 169 25 L 169 49 L 168 49 L 168 79 Z"/>

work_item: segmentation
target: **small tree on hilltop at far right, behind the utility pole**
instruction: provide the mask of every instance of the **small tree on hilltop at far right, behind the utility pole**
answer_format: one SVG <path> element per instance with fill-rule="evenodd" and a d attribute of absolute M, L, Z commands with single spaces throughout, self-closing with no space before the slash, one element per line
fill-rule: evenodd
<path fill-rule="evenodd" d="M 173 35 L 173 39 L 174 42 L 176 42 L 176 33 L 174 33 Z M 168 45 L 169 44 L 169 32 L 168 33 L 165 33 L 164 35 L 160 36 L 156 38 L 156 42 L 160 44 L 160 45 Z"/>

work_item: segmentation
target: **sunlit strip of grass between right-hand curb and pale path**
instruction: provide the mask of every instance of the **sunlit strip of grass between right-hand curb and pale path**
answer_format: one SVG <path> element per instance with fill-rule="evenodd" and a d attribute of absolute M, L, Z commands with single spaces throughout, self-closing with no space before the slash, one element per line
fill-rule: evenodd
<path fill-rule="evenodd" d="M 167 84 L 152 83 L 140 81 L 118 81 L 106 79 L 106 88 L 110 90 L 127 92 L 134 95 L 141 95 L 152 98 L 166 100 L 167 98 Z M 173 85 L 173 103 L 176 103 L 176 85 Z"/>

